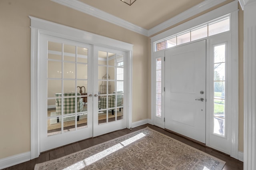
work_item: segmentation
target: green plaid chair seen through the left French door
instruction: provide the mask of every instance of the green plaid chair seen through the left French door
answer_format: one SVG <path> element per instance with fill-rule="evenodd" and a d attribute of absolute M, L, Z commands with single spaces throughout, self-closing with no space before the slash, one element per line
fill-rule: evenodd
<path fill-rule="evenodd" d="M 64 93 L 64 97 L 68 96 L 75 96 L 76 93 Z M 80 93 L 77 93 L 78 96 L 80 96 Z M 61 93 L 56 93 L 55 97 L 61 97 Z M 61 115 L 61 99 L 55 99 L 56 100 L 56 115 Z M 75 97 L 70 98 L 64 98 L 63 102 L 63 113 L 75 113 Z M 83 99 L 81 97 L 77 97 L 77 112 L 83 111 Z M 77 121 L 79 121 L 79 117 L 77 118 Z M 58 119 L 57 119 L 58 122 Z"/>

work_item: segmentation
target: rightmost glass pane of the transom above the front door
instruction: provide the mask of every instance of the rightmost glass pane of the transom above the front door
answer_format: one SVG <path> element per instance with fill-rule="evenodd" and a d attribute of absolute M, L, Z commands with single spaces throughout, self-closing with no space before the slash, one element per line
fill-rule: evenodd
<path fill-rule="evenodd" d="M 223 18 L 208 25 L 209 36 L 230 30 L 230 17 Z"/>

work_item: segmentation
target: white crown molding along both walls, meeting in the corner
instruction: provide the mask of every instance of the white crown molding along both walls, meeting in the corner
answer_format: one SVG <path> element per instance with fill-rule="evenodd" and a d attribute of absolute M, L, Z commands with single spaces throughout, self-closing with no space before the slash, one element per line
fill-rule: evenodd
<path fill-rule="evenodd" d="M 126 20 L 123 20 L 121 18 L 118 18 L 112 14 L 109 14 L 107 12 L 99 10 L 98 8 L 95 8 L 93 6 L 90 6 L 88 4 L 80 2 L 79 0 L 52 0 L 52 1 L 56 2 L 58 4 L 62 4 L 64 6 L 67 6 L 69 8 L 78 10 L 80 12 L 84 12 L 85 14 L 89 14 L 91 16 L 94 16 L 101 20 L 110 22 L 117 26 L 126 28 L 133 32 L 142 34 L 144 36 L 152 36 L 152 35 L 160 32 L 174 24 L 177 24 L 179 22 L 182 22 L 183 20 L 186 20 L 187 18 L 189 18 L 191 16 L 199 14 L 200 12 L 203 12 L 203 11 L 208 10 L 209 8 L 212 8 L 222 2 L 225 2 L 226 0 L 204 0 L 200 4 L 178 14 L 177 16 L 174 16 L 173 18 L 170 18 L 169 20 L 163 22 L 162 24 L 159 24 L 158 26 L 155 26 L 154 28 L 151 28 L 150 30 L 146 30 L 140 26 L 132 24 L 132 23 L 130 23 Z"/>

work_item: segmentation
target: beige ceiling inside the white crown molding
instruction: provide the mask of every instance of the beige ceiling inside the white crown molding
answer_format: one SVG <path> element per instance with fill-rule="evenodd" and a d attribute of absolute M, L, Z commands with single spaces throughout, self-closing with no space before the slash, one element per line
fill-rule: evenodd
<path fill-rule="evenodd" d="M 79 1 L 150 30 L 204 0 L 136 0 L 132 6 L 121 0 Z"/>

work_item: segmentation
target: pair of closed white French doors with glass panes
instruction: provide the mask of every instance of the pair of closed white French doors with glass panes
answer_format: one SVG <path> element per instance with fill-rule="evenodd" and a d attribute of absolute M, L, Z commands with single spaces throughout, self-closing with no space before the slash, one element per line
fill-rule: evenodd
<path fill-rule="evenodd" d="M 42 35 L 39 70 L 40 152 L 126 128 L 125 52 Z"/>

